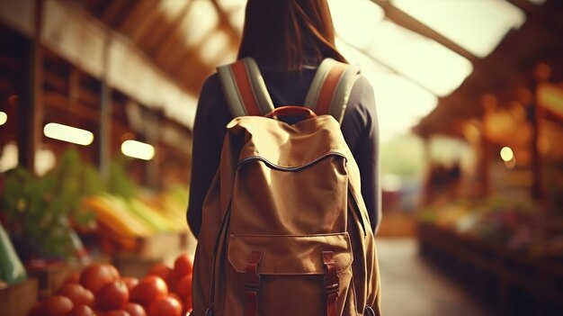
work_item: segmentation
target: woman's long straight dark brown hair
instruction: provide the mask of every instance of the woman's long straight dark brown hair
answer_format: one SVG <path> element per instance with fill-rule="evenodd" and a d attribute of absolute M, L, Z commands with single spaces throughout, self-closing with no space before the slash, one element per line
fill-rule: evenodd
<path fill-rule="evenodd" d="M 346 62 L 335 45 L 326 0 L 248 0 L 238 58 L 277 63 L 285 72 L 322 59 Z"/>

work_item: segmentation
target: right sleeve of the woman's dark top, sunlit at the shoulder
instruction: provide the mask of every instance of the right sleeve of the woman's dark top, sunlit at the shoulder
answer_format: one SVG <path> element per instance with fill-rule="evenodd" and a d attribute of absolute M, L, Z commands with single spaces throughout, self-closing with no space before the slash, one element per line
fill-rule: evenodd
<path fill-rule="evenodd" d="M 373 87 L 365 77 L 358 78 L 353 86 L 342 129 L 360 168 L 362 197 L 375 234 L 381 221 L 380 132 Z"/>

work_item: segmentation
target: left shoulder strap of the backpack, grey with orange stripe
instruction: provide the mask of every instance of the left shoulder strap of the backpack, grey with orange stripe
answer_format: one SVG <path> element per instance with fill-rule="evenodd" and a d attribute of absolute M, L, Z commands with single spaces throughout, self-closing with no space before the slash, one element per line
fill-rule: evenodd
<path fill-rule="evenodd" d="M 273 111 L 272 98 L 255 59 L 239 59 L 219 66 L 217 72 L 233 117 L 265 115 Z"/>

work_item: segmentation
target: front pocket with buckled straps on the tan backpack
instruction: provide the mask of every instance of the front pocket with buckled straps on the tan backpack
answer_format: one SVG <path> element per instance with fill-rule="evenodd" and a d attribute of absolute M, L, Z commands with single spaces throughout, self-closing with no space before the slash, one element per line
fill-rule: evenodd
<path fill-rule="evenodd" d="M 253 261 L 258 262 L 253 266 Z M 256 272 L 259 315 L 324 315 L 331 300 L 328 292 L 332 291 L 331 297 L 340 301 L 335 305 L 344 306 L 352 279 L 353 254 L 347 232 L 230 235 L 228 262 L 225 311 L 246 308 L 249 288 L 254 291 L 248 281 Z M 328 272 L 331 269 L 334 275 Z M 229 303 L 234 305 L 229 307 Z"/>

